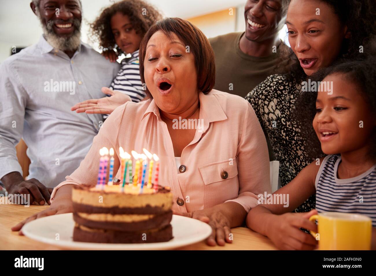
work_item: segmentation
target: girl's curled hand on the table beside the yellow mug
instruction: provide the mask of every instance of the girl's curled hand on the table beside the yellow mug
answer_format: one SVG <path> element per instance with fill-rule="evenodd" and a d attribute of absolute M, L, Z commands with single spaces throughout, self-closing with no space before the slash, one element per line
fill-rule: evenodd
<path fill-rule="evenodd" d="M 281 250 L 313 250 L 317 246 L 317 240 L 299 228 L 316 233 L 317 225 L 308 220 L 314 214 L 317 214 L 316 210 L 276 215 L 268 231 L 268 237 Z"/>

